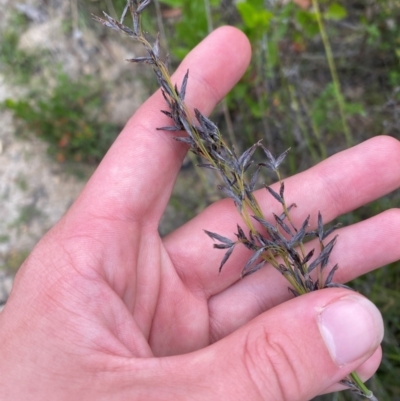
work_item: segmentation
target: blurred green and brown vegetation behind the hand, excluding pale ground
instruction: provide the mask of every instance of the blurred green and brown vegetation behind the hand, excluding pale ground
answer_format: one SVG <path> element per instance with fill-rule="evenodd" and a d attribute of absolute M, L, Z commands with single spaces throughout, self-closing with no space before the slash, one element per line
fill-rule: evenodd
<path fill-rule="evenodd" d="M 48 1 L 42 3 L 44 10 Z M 71 1 L 60 24 L 66 37 L 91 32 L 102 40 L 113 33 L 97 26 L 90 14 L 105 10 L 116 16 L 124 5 L 125 0 Z M 172 68 L 220 25 L 235 25 L 246 33 L 253 47 L 252 63 L 213 119 L 239 152 L 259 139 L 273 153 L 291 147 L 283 167 L 286 175 L 372 136 L 400 139 L 399 21 L 396 0 L 159 0 L 145 15 L 149 35 L 161 33 Z M 122 127 L 103 116 L 115 83 L 110 85 L 96 69 L 70 74 L 62 63 L 54 63 L 48 50 L 20 49 L 21 32 L 29 24 L 26 11 L 12 9 L 2 27 L 0 71 L 24 91 L 1 107 L 13 112 L 21 132 L 29 133 L 24 134 L 27 139 L 43 138 L 59 162 L 96 164 Z M 118 40 L 126 43 L 126 38 Z M 102 57 L 98 48 L 88 64 Z M 49 74 L 43 74 L 49 63 L 50 84 Z M 130 68 L 134 72 L 118 77 L 125 86 L 140 80 L 146 93 L 156 88 L 143 69 Z M 190 193 L 178 189 L 171 199 L 178 224 L 220 196 L 215 183 L 188 159 L 181 185 L 186 188 L 191 182 L 193 188 L 193 175 L 199 175 L 196 181 L 202 184 Z M 397 191 L 340 221 L 355 223 L 399 205 Z M 384 316 L 383 363 L 369 383 L 381 401 L 400 400 L 399 272 L 400 263 L 395 263 L 351 283 Z M 356 398 L 346 392 L 319 399 Z"/>

